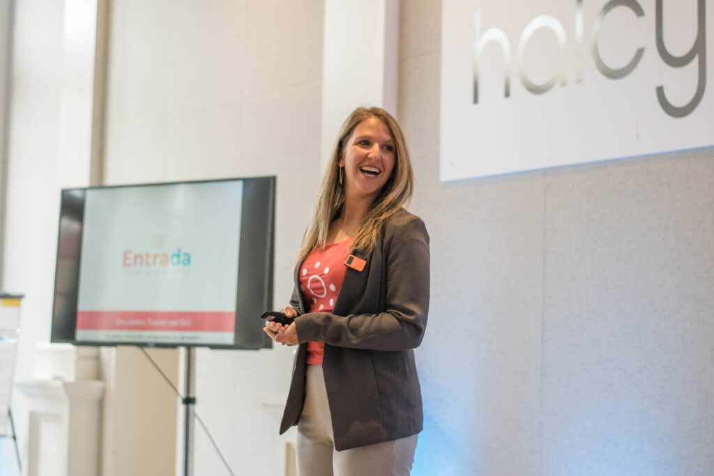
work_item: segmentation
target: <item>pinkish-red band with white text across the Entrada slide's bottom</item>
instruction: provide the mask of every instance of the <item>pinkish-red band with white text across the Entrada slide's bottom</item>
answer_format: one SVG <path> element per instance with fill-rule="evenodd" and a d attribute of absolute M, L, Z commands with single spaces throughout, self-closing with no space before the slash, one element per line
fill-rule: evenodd
<path fill-rule="evenodd" d="M 78 330 L 233 332 L 236 313 L 211 311 L 80 310 Z"/>

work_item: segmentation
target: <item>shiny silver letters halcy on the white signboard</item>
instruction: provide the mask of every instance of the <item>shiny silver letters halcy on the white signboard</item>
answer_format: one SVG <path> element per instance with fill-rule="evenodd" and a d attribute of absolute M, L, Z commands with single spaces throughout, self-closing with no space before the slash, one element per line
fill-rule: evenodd
<path fill-rule="evenodd" d="M 698 10 L 697 10 L 697 37 L 694 41 L 694 45 L 690 51 L 683 56 L 675 56 L 668 51 L 664 43 L 664 19 L 663 19 L 663 0 L 655 1 L 655 42 L 657 44 L 657 51 L 660 54 L 660 58 L 673 68 L 683 68 L 687 66 L 695 59 L 698 63 L 698 83 L 697 90 L 694 93 L 693 98 L 689 103 L 684 106 L 675 106 L 667 99 L 665 95 L 664 86 L 657 86 L 657 100 L 660 103 L 663 111 L 668 113 L 670 116 L 675 118 L 682 118 L 688 116 L 695 108 L 699 105 L 702 97 L 704 96 L 704 90 L 707 84 L 707 59 L 706 59 L 706 25 L 705 25 L 705 1 L 697 0 Z M 610 10 L 615 9 L 618 6 L 626 7 L 633 11 L 635 16 L 638 18 L 645 16 L 645 11 L 637 0 L 610 0 L 608 1 L 603 9 L 600 10 L 595 22 L 593 24 L 593 34 L 590 40 L 590 53 L 593 56 L 593 61 L 595 66 L 598 68 L 603 76 L 610 79 L 623 79 L 628 76 L 638 65 L 640 59 L 642 59 L 645 53 L 645 48 L 641 47 L 635 54 L 628 64 L 622 68 L 612 68 L 605 64 L 602 57 L 600 56 L 600 50 L 598 47 L 598 37 L 600 36 L 600 29 L 603 26 L 603 21 L 605 16 L 610 12 Z M 583 0 L 575 0 L 575 83 L 583 82 Z M 545 83 L 536 84 L 528 79 L 526 76 L 526 71 L 524 69 L 523 57 L 526 53 L 526 46 L 528 41 L 530 41 L 533 33 L 541 28 L 547 28 L 553 31 L 553 34 L 558 38 L 558 43 L 560 44 L 560 61 L 558 71 L 553 74 L 553 76 L 545 81 Z M 496 43 L 501 45 L 503 49 L 503 68 L 505 76 L 504 96 L 508 98 L 511 96 L 511 43 L 508 41 L 508 36 L 503 30 L 500 29 L 489 29 L 488 31 L 481 34 L 481 12 L 476 11 L 475 18 L 475 41 L 473 44 L 473 103 L 478 104 L 478 61 L 481 57 L 481 52 L 484 46 L 491 41 L 496 41 Z M 547 93 L 552 89 L 555 84 L 560 82 L 560 86 L 565 86 L 565 51 L 568 46 L 568 38 L 565 36 L 565 29 L 563 24 L 555 19 L 554 16 L 550 15 L 540 15 L 535 17 L 533 20 L 526 25 L 526 29 L 523 30 L 521 34 L 521 40 L 518 42 L 518 51 L 516 54 L 516 66 L 518 67 L 518 75 L 521 77 L 521 82 L 523 86 L 531 91 L 533 94 L 543 94 Z"/>

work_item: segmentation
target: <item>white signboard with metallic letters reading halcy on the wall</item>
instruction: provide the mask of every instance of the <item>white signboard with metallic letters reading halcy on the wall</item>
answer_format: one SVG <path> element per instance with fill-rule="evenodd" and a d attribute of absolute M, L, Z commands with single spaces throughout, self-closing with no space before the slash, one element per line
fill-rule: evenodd
<path fill-rule="evenodd" d="M 713 9 L 444 0 L 441 180 L 713 145 Z"/>

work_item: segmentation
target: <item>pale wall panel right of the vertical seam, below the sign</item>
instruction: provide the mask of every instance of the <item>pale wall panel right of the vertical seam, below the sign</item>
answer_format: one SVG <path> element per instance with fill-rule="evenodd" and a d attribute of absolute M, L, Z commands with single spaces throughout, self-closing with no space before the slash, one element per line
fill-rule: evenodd
<path fill-rule="evenodd" d="M 548 171 L 544 475 L 712 474 L 711 153 Z"/>

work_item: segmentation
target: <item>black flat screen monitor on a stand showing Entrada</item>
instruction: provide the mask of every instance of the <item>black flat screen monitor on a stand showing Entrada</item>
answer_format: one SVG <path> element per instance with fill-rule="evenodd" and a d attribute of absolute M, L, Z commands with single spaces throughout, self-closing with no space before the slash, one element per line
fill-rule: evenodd
<path fill-rule="evenodd" d="M 275 178 L 61 192 L 51 341 L 256 349 Z"/>

